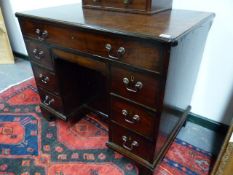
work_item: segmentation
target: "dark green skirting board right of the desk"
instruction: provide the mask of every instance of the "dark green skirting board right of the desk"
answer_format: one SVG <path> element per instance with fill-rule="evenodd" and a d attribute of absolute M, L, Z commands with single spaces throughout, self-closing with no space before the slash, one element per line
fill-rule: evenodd
<path fill-rule="evenodd" d="M 226 135 L 229 128 L 229 126 L 226 124 L 210 120 L 206 117 L 194 113 L 189 113 L 187 117 L 187 121 L 195 123 L 197 125 L 200 125 L 204 128 L 210 129 L 212 131 L 215 131 L 223 135 Z"/>

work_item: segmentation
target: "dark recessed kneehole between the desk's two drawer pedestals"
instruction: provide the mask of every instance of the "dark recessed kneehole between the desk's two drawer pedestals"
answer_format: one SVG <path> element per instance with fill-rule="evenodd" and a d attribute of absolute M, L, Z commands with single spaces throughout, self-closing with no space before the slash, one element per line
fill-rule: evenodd
<path fill-rule="evenodd" d="M 60 91 L 64 97 L 65 112 L 69 114 L 76 108 L 91 105 L 93 102 L 101 107 L 104 104 L 102 108 L 106 108 L 105 63 L 90 58 L 85 59 L 69 52 L 59 51 L 59 53 L 54 54 L 54 64 Z M 84 60 L 86 66 L 82 66 Z M 99 99 L 102 102 L 97 101 Z"/>

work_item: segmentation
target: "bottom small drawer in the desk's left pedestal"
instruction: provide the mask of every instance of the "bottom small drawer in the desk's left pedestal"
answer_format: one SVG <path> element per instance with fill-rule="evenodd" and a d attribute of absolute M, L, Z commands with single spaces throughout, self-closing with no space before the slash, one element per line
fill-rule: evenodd
<path fill-rule="evenodd" d="M 38 91 L 40 94 L 41 103 L 50 108 L 53 108 L 56 111 L 64 111 L 61 97 L 53 95 L 41 88 L 38 88 Z"/>

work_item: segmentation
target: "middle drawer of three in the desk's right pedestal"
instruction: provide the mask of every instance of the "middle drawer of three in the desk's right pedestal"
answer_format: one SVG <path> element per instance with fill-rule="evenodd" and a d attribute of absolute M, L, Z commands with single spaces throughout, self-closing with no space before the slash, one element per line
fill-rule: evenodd
<path fill-rule="evenodd" d="M 114 96 L 111 96 L 111 120 L 149 139 L 153 139 L 159 125 L 156 113 Z"/>

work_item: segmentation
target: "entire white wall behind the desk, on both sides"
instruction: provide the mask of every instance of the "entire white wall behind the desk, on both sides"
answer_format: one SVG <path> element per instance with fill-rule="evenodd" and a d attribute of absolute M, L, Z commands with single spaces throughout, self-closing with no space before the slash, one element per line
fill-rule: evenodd
<path fill-rule="evenodd" d="M 13 50 L 26 54 L 14 12 L 80 1 L 2 0 Z M 173 0 L 173 8 L 216 13 L 191 105 L 193 113 L 227 124 L 233 116 L 233 54 L 231 53 L 233 51 L 233 1 Z"/>

